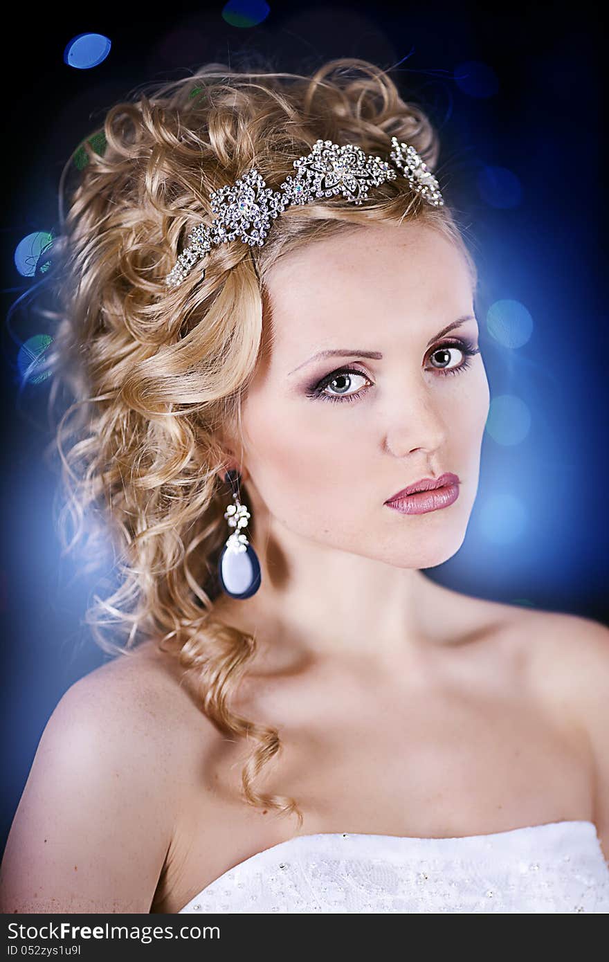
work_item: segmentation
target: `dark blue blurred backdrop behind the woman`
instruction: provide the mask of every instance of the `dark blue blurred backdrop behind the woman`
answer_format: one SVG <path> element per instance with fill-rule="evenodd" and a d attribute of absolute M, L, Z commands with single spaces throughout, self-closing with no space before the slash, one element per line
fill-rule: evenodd
<path fill-rule="evenodd" d="M 29 283 L 13 266 L 16 243 L 57 223 L 66 158 L 128 90 L 209 61 L 240 68 L 241 50 L 299 72 L 339 56 L 383 67 L 402 61 L 393 79 L 406 97 L 423 99 L 439 128 L 440 165 L 449 171 L 444 192 L 471 224 L 481 326 L 502 298 L 521 301 L 534 320 L 530 340 L 513 351 L 483 331 L 492 396 L 520 396 L 531 429 L 512 446 L 485 437 L 466 542 L 430 576 L 469 595 L 608 621 L 599 177 L 604 51 L 592 8 L 537 5 L 524 16 L 514 4 L 491 12 L 492 5 L 472 4 L 271 3 L 266 21 L 244 30 L 222 19 L 221 6 L 172 3 L 165 17 L 145 6 L 105 5 L 105 12 L 83 6 L 72 13 L 49 7 L 42 19 L 37 12 L 22 21 L 18 42 L 5 35 L 5 315 Z M 113 48 L 99 66 L 75 70 L 63 63 L 63 48 L 85 31 L 105 34 Z M 467 61 L 495 70 L 493 96 L 460 89 L 454 71 Z M 477 186 L 484 165 L 517 174 L 518 206 L 485 202 Z M 12 323 L 17 339 L 38 333 L 27 316 L 15 315 Z M 49 715 L 68 685 L 104 656 L 83 623 L 97 580 L 79 579 L 74 562 L 60 559 L 53 527 L 56 478 L 42 460 L 48 382 L 21 392 L 18 344 L 8 331 L 3 346 L 6 836 Z M 523 533 L 512 543 L 484 537 L 485 499 L 497 492 L 514 494 L 526 509 Z"/>

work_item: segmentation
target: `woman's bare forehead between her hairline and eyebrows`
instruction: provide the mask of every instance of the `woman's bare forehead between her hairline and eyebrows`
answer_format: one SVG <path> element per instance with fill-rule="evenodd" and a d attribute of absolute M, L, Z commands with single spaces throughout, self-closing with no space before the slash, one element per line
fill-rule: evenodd
<path fill-rule="evenodd" d="M 273 342 L 313 344 L 371 322 L 391 326 L 392 317 L 430 316 L 441 327 L 464 313 L 471 285 L 456 245 L 417 224 L 383 227 L 309 244 L 268 271 Z"/>

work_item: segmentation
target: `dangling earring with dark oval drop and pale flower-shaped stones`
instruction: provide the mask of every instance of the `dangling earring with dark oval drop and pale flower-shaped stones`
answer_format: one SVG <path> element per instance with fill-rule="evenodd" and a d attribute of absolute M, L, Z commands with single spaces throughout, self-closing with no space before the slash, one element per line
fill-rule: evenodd
<path fill-rule="evenodd" d="M 232 485 L 235 502 L 228 505 L 224 518 L 236 530 L 226 539 L 217 563 L 217 572 L 222 591 L 233 598 L 248 598 L 258 591 L 261 583 L 258 555 L 242 533 L 251 516 L 240 501 L 239 471 L 227 471 L 224 480 Z"/>

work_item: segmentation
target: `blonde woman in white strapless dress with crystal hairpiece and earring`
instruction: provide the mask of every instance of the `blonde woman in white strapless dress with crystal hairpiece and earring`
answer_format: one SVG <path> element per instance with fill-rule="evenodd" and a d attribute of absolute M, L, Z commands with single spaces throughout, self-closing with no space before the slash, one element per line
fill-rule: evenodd
<path fill-rule="evenodd" d="M 606 629 L 423 573 L 489 410 L 428 118 L 367 62 L 211 64 L 104 136 L 50 278 L 115 657 L 46 725 L 3 910 L 606 912 Z"/>

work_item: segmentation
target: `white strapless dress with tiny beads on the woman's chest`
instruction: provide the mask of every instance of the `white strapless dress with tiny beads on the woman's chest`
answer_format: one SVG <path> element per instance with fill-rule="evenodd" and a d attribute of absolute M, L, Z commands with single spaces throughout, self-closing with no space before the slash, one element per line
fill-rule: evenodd
<path fill-rule="evenodd" d="M 609 912 L 592 822 L 490 835 L 296 835 L 223 873 L 183 912 Z"/>

